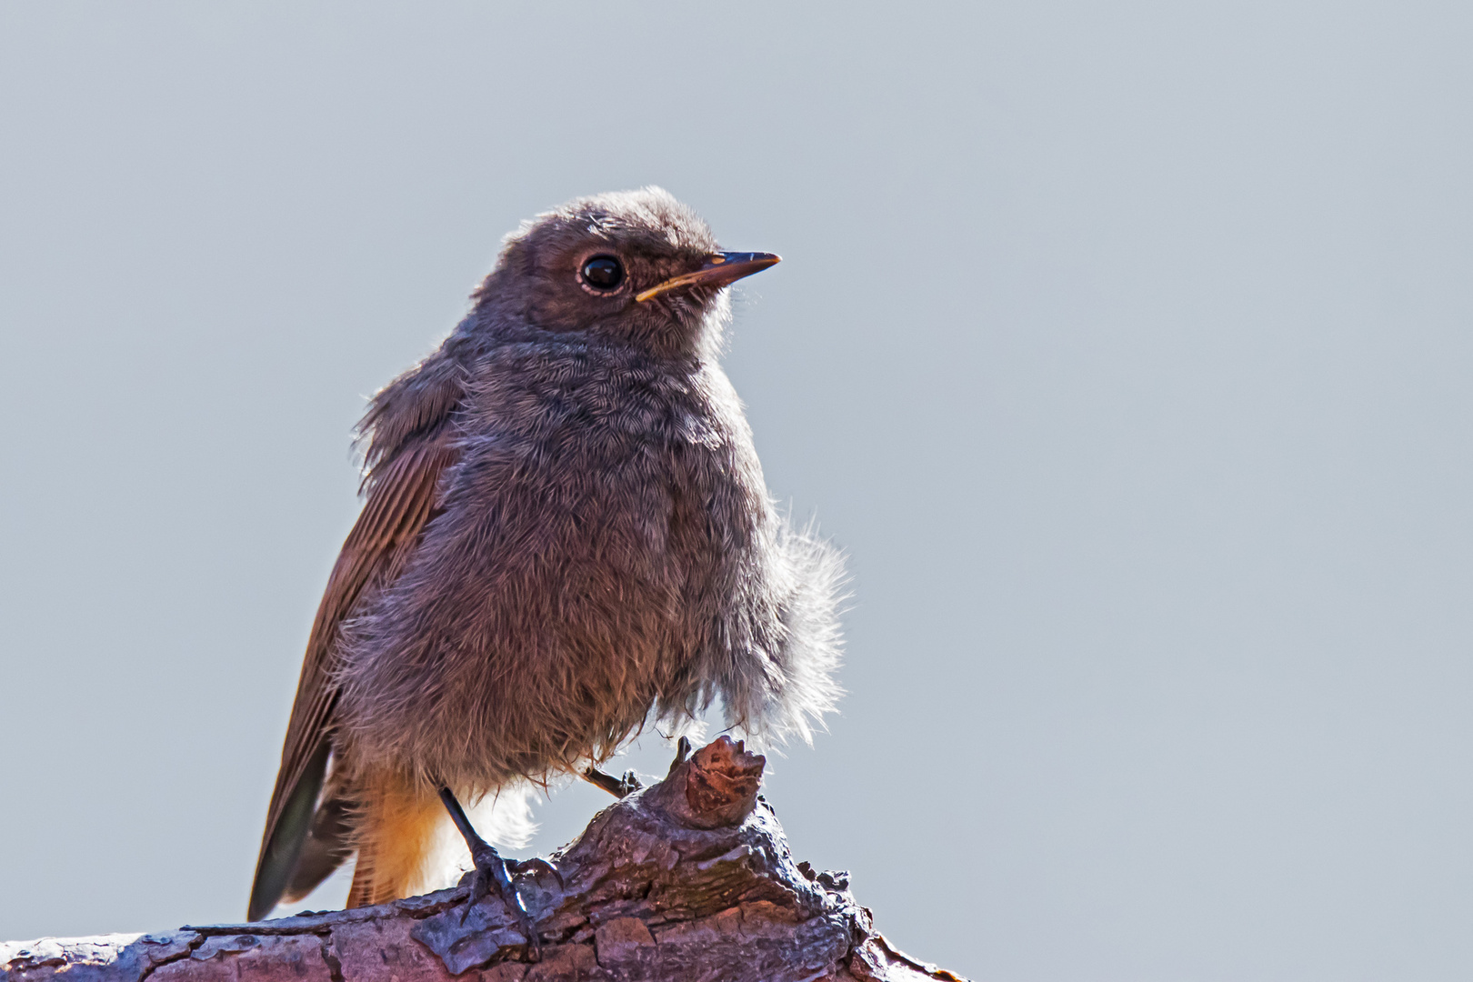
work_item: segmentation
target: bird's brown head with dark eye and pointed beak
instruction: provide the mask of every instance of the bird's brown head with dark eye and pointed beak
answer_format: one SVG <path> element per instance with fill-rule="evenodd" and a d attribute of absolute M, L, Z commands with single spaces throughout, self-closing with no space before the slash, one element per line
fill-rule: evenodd
<path fill-rule="evenodd" d="M 645 187 L 523 222 L 474 300 L 493 330 L 588 331 L 697 353 L 720 330 L 723 289 L 776 262 L 766 252 L 722 252 L 695 212 Z"/>

